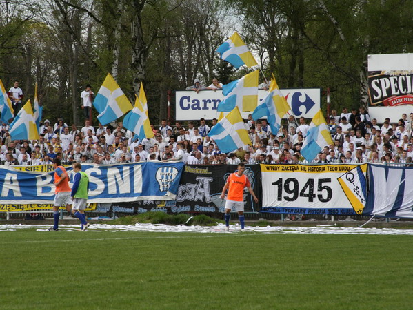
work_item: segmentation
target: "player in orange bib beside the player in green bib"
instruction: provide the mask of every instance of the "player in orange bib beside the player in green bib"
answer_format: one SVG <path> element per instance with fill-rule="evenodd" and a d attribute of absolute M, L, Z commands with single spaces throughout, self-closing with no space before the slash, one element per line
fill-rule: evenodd
<path fill-rule="evenodd" d="M 50 227 L 49 231 L 59 230 L 59 207 L 66 205 L 66 210 L 70 214 L 72 211 L 72 199 L 70 194 L 72 189 L 69 186 L 69 176 L 66 169 L 61 165 L 59 158 L 53 159 L 54 168 L 54 185 L 56 189 L 54 191 L 54 202 L 53 202 L 53 219 L 54 225 Z"/>

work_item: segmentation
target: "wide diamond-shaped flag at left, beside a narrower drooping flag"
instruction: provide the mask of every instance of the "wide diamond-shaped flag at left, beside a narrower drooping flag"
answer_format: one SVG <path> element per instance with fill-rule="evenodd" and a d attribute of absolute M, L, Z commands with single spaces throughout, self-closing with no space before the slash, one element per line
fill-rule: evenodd
<path fill-rule="evenodd" d="M 102 125 L 106 125 L 132 110 L 130 101 L 110 73 L 103 81 L 93 105 L 100 113 L 97 118 Z"/>

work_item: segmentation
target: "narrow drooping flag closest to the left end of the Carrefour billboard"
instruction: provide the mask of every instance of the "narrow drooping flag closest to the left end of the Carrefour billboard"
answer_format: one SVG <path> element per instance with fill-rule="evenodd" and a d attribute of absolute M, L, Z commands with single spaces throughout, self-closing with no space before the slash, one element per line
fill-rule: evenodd
<path fill-rule="evenodd" d="M 139 90 L 139 98 L 137 96 L 134 108 L 123 118 L 123 126 L 137 134 L 139 140 L 152 138 L 154 136 L 154 132 L 152 132 L 152 128 L 150 127 L 148 104 L 142 83 L 141 89 Z"/>

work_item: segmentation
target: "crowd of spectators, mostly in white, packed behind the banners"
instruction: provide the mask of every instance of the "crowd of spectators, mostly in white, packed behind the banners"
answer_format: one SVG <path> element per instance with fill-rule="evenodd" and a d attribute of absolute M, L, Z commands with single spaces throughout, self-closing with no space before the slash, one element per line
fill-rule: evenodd
<path fill-rule="evenodd" d="M 157 128 L 152 126 L 153 138 L 142 141 L 121 122 L 107 127 L 90 125 L 68 126 L 63 119 L 40 127 L 37 141 L 12 141 L 8 125 L 1 125 L 0 161 L 3 165 L 51 164 L 60 158 L 64 164 L 133 163 L 141 161 L 184 161 L 188 164 L 246 164 L 308 163 L 301 155 L 301 147 L 308 133 L 305 118 L 297 121 L 289 116 L 280 132 L 272 133 L 266 120 L 246 122 L 252 145 L 245 145 L 230 154 L 223 154 L 208 136 L 216 125 L 199 122 L 181 123 L 174 127 L 165 120 Z M 311 164 L 323 163 L 412 163 L 413 113 L 403 114 L 398 121 L 386 119 L 381 125 L 370 119 L 366 110 L 343 109 L 339 115 L 332 110 L 328 129 L 334 145 L 326 146 Z"/>

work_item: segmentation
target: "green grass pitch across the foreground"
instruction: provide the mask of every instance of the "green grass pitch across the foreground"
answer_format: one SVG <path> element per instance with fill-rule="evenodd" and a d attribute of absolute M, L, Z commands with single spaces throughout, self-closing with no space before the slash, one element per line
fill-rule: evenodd
<path fill-rule="evenodd" d="M 410 309 L 411 236 L 0 233 L 0 309 Z"/>

